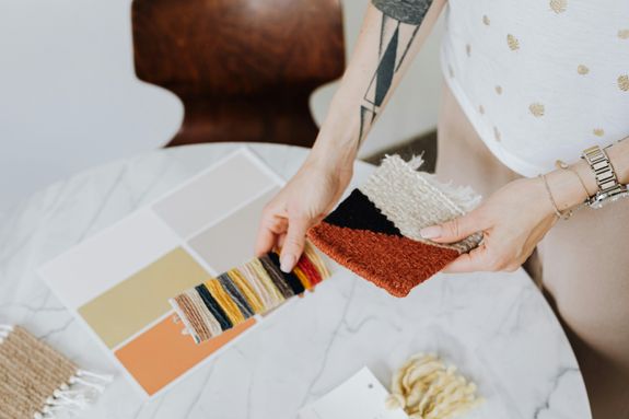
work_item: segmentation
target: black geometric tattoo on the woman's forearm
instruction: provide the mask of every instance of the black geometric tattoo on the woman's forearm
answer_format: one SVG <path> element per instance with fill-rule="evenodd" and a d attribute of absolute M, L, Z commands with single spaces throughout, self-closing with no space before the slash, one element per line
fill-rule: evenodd
<path fill-rule="evenodd" d="M 372 0 L 382 12 L 378 63 L 360 106 L 359 146 L 366 137 L 432 0 Z"/>

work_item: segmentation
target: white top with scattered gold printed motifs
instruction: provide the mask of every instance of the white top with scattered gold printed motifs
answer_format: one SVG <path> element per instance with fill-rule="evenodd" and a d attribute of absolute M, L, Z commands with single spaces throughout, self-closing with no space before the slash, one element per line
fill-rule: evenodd
<path fill-rule="evenodd" d="M 629 136 L 629 1 L 450 0 L 445 79 L 524 176 Z"/>

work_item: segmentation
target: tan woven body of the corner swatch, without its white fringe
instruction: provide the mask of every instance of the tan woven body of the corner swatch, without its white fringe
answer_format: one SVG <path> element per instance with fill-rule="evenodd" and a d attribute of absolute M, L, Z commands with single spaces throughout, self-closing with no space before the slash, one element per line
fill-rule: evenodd
<path fill-rule="evenodd" d="M 0 344 L 0 418 L 34 418 L 77 366 L 21 327 Z"/>

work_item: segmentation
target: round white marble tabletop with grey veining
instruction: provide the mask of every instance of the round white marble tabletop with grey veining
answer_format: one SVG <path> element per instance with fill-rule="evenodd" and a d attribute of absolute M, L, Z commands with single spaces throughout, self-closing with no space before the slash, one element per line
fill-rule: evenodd
<path fill-rule="evenodd" d="M 156 150 L 110 163 L 54 184 L 5 214 L 0 323 L 27 327 L 85 368 L 116 372 L 39 280 L 37 267 L 235 147 Z M 306 155 L 284 146 L 251 148 L 286 178 Z M 357 163 L 354 185 L 372 168 Z M 340 270 L 159 398 L 143 401 L 117 374 L 80 417 L 295 418 L 363 365 L 388 385 L 392 372 L 418 351 L 440 353 L 478 384 L 487 403 L 466 418 L 591 418 L 568 340 L 523 270 L 439 275 L 406 299 Z"/>

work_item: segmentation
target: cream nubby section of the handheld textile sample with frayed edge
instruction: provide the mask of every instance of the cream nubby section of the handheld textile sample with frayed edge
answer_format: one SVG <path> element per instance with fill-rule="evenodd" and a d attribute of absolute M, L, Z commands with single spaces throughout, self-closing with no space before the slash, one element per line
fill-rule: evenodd
<path fill-rule="evenodd" d="M 422 164 L 421 158 L 405 162 L 399 155 L 389 155 L 359 190 L 403 235 L 435 245 L 423 238 L 419 231 L 464 216 L 480 203 L 480 196 L 469 187 L 454 187 L 440 183 L 434 175 L 418 172 Z M 480 234 L 475 234 L 458 243 L 440 246 L 465 253 L 476 247 L 481 238 Z"/>

